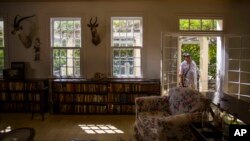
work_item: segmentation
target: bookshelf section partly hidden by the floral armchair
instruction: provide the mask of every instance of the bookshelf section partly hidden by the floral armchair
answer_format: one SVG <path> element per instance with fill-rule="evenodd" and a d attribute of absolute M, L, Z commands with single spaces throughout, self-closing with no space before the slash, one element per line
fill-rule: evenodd
<path fill-rule="evenodd" d="M 134 114 L 135 98 L 160 95 L 159 80 L 117 79 L 109 82 L 108 113 Z"/>

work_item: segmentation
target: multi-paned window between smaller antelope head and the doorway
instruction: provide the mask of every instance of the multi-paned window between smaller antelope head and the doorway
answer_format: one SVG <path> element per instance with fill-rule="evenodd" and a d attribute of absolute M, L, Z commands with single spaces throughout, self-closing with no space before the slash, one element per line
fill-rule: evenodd
<path fill-rule="evenodd" d="M 141 77 L 141 17 L 111 18 L 112 76 Z"/>

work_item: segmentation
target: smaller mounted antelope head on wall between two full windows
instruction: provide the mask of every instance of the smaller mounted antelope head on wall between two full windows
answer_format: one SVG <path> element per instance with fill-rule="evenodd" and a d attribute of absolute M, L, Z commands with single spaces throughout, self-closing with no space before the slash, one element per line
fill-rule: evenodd
<path fill-rule="evenodd" d="M 95 18 L 94 23 L 92 23 L 92 18 L 91 18 L 88 24 L 88 27 L 90 28 L 91 35 L 92 35 L 92 43 L 96 46 L 101 42 L 100 36 L 97 33 L 98 25 L 99 24 L 97 24 L 97 17 Z"/>

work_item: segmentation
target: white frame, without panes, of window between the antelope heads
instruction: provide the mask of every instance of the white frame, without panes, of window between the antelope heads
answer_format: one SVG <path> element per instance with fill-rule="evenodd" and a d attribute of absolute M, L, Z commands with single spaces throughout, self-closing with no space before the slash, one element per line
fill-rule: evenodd
<path fill-rule="evenodd" d="M 50 49 L 51 49 L 51 63 L 52 63 L 52 68 L 51 68 L 51 75 L 53 76 L 53 77 L 62 77 L 62 78 L 67 78 L 67 77 L 70 77 L 70 78 L 75 78 L 75 77 L 81 77 L 81 48 L 82 48 L 82 45 L 83 45 L 83 41 L 82 41 L 82 32 L 83 32 L 83 30 L 82 30 L 82 20 L 81 20 L 82 18 L 81 17 L 61 17 L 61 16 L 59 16 L 59 17 L 50 17 Z M 73 21 L 73 20 L 79 20 L 80 21 L 80 33 L 79 33 L 79 35 L 80 35 L 80 37 L 79 37 L 79 39 L 80 39 L 80 46 L 78 46 L 78 47 L 76 47 L 76 46 L 69 46 L 69 47 L 66 47 L 66 46 L 58 46 L 58 47 L 55 47 L 54 45 L 53 45 L 53 42 L 54 42 L 54 40 L 53 40 L 53 38 L 54 38 L 54 30 L 53 30 L 53 21 L 62 21 L 62 20 L 68 20 L 68 21 Z M 74 37 L 74 40 L 75 39 L 77 39 L 77 38 L 75 38 Z M 69 61 L 69 60 L 72 60 L 72 66 L 68 66 L 68 65 L 66 65 L 65 66 L 65 71 L 66 71 L 66 75 L 62 75 L 62 72 L 60 71 L 59 72 L 59 75 L 54 75 L 54 50 L 66 50 L 66 52 L 70 52 L 70 50 L 73 50 L 73 52 L 75 51 L 75 50 L 79 50 L 79 58 L 75 58 L 74 56 L 70 56 L 69 58 L 68 58 L 68 56 L 66 56 L 66 58 L 64 58 L 64 59 L 66 59 L 66 61 Z M 62 58 L 58 58 L 59 60 L 60 59 L 62 59 Z M 79 61 L 79 66 L 78 67 L 76 67 L 75 65 L 74 65 L 74 61 Z M 68 62 L 67 62 L 68 63 Z M 72 73 L 72 75 L 68 75 L 68 68 L 72 68 L 73 70 L 73 73 Z M 75 69 L 79 69 L 79 74 L 78 75 L 76 75 L 75 74 Z"/>

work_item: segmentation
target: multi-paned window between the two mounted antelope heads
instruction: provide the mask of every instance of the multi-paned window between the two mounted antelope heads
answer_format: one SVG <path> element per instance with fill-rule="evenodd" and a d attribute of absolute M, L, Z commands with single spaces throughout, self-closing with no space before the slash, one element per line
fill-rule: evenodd
<path fill-rule="evenodd" d="M 53 76 L 79 77 L 81 19 L 51 18 L 50 22 Z"/>

